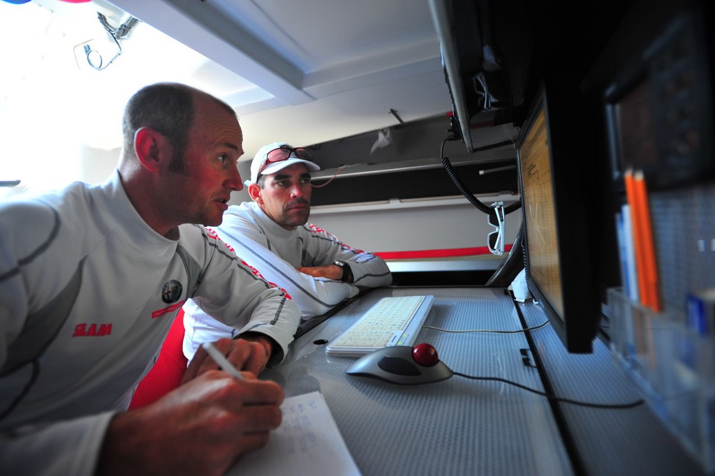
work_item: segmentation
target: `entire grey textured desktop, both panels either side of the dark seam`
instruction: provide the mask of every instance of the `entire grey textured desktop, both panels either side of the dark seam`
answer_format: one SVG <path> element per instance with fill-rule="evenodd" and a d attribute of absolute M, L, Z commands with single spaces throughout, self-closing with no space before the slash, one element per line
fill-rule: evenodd
<path fill-rule="evenodd" d="M 400 294 L 435 297 L 426 326 L 515 330 L 521 329 L 520 313 L 531 327 L 546 319 L 533 304 L 517 307 L 501 288 L 386 288 L 355 299 L 297 338 L 283 365 L 262 378 L 278 382 L 287 397 L 321 392 L 363 475 L 704 474 L 646 405 L 605 410 L 559 404 L 555 414 L 545 397 L 500 382 L 455 375 L 403 386 L 345 374 L 355 359 L 328 357 L 327 342 L 381 297 Z M 418 342 L 433 344 L 455 372 L 543 390 L 533 367 L 538 361 L 561 397 L 600 403 L 641 398 L 603 343 L 595 342 L 593 354 L 568 354 L 549 326 L 531 337 L 531 350 L 521 332 L 423 329 Z"/>

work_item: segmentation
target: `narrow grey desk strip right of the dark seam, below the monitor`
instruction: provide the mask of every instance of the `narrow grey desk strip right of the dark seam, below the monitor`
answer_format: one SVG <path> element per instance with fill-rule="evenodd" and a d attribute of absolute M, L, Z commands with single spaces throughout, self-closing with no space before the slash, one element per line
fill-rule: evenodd
<path fill-rule="evenodd" d="M 533 302 L 519 304 L 528 326 L 543 322 Z M 601 339 L 592 354 L 569 354 L 551 327 L 531 332 L 543 368 L 559 397 L 598 404 L 642 400 Z M 704 470 L 648 405 L 626 410 L 558 404 L 588 475 L 704 475 Z"/>

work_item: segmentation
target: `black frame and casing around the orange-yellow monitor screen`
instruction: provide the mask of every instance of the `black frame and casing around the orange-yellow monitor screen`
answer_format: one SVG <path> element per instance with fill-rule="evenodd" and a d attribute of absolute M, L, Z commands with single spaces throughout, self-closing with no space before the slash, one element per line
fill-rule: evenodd
<path fill-rule="evenodd" d="M 539 86 L 534 95 L 531 109 L 516 143 L 519 190 L 523 200 L 520 151 L 542 108 L 546 114 L 549 142 L 563 317 L 558 314 L 540 284 L 534 281 L 529 272 L 531 256 L 528 240 L 531 231 L 528 229 L 526 217 L 528 204 L 522 202 L 525 237 L 523 252 L 528 289 L 543 308 L 566 350 L 570 353 L 591 353 L 601 322 L 598 279 L 594 275 L 596 268 L 592 263 L 596 254 L 593 253 L 592 256 L 589 244 L 590 237 L 593 236 L 590 229 L 593 224 L 589 224 L 589 217 L 597 216 L 592 209 L 593 191 L 584 183 L 588 181 L 588 177 L 584 177 L 581 167 L 583 164 L 578 161 L 578 135 L 573 134 L 572 124 L 569 123 L 573 118 L 570 114 L 558 114 L 560 108 L 566 108 L 564 111 L 570 110 L 568 98 L 560 95 L 558 89 L 550 90 L 544 84 Z"/>

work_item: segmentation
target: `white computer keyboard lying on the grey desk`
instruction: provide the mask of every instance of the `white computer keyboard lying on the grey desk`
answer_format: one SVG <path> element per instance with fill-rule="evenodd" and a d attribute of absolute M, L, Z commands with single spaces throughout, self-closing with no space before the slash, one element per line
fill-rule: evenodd
<path fill-rule="evenodd" d="M 383 347 L 413 345 L 434 299 L 433 296 L 383 297 L 325 351 L 341 357 L 360 357 Z"/>

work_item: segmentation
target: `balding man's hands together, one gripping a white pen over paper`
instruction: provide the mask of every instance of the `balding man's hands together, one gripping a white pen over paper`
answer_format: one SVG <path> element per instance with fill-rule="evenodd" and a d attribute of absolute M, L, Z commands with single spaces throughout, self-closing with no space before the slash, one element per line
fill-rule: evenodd
<path fill-rule="evenodd" d="M 268 361 L 266 347 L 222 341 L 211 351 L 220 362 L 199 348 L 179 388 L 114 415 L 97 474 L 126 474 L 139 464 L 154 475 L 222 475 L 236 457 L 268 442 L 280 426 L 284 395 L 277 383 L 257 380 Z"/>

